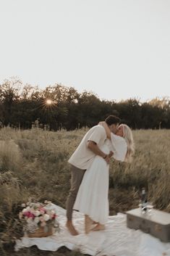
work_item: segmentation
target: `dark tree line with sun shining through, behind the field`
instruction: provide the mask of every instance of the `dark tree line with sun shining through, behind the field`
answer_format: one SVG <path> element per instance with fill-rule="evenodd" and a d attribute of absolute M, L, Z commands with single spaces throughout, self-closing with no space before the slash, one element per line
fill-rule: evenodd
<path fill-rule="evenodd" d="M 0 85 L 0 125 L 32 128 L 35 120 L 50 130 L 92 127 L 108 115 L 117 115 L 132 129 L 170 128 L 170 97 L 141 103 L 101 100 L 93 92 L 81 94 L 73 87 L 55 83 L 40 89 L 13 78 Z"/>

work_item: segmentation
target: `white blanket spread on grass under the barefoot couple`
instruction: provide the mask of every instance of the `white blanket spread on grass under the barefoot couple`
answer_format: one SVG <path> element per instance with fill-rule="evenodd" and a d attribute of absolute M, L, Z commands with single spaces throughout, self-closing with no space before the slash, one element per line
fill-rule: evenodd
<path fill-rule="evenodd" d="M 53 252 L 65 246 L 95 256 L 170 256 L 170 243 L 163 243 L 140 230 L 127 228 L 125 214 L 109 216 L 105 231 L 91 231 L 86 235 L 84 215 L 74 212 L 73 221 L 80 234 L 72 236 L 65 227 L 66 210 L 54 204 L 48 207 L 56 210 L 60 232 L 46 238 L 22 237 L 16 241 L 16 251 L 36 245 L 39 249 Z"/>

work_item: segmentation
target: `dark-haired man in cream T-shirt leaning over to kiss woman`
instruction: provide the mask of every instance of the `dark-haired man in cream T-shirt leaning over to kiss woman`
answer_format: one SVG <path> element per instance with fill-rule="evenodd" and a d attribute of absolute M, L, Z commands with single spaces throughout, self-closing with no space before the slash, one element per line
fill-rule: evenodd
<path fill-rule="evenodd" d="M 105 120 L 110 131 L 113 133 L 116 133 L 119 121 L 119 117 L 114 115 L 109 115 Z M 72 178 L 71 189 L 69 190 L 69 196 L 67 197 L 66 226 L 73 236 L 76 236 L 78 232 L 72 224 L 72 208 L 75 204 L 77 192 L 85 174 L 85 170 L 90 168 L 96 154 L 103 157 L 103 159 L 109 164 L 111 154 L 105 154 L 100 149 L 106 139 L 107 136 L 105 128 L 101 125 L 95 125 L 88 131 L 88 133 L 85 134 L 79 146 L 69 158 L 68 162 L 71 164 Z"/>

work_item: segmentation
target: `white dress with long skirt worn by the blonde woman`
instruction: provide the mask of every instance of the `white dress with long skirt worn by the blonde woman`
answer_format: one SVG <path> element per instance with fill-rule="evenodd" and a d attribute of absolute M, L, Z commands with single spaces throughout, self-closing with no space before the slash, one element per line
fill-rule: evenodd
<path fill-rule="evenodd" d="M 127 152 L 126 141 L 111 133 L 111 141 L 106 140 L 101 150 L 108 154 L 114 152 L 116 160 L 123 161 Z M 85 171 L 75 200 L 74 210 L 89 215 L 92 220 L 105 224 L 109 216 L 109 165 L 95 156 L 92 165 Z"/>

